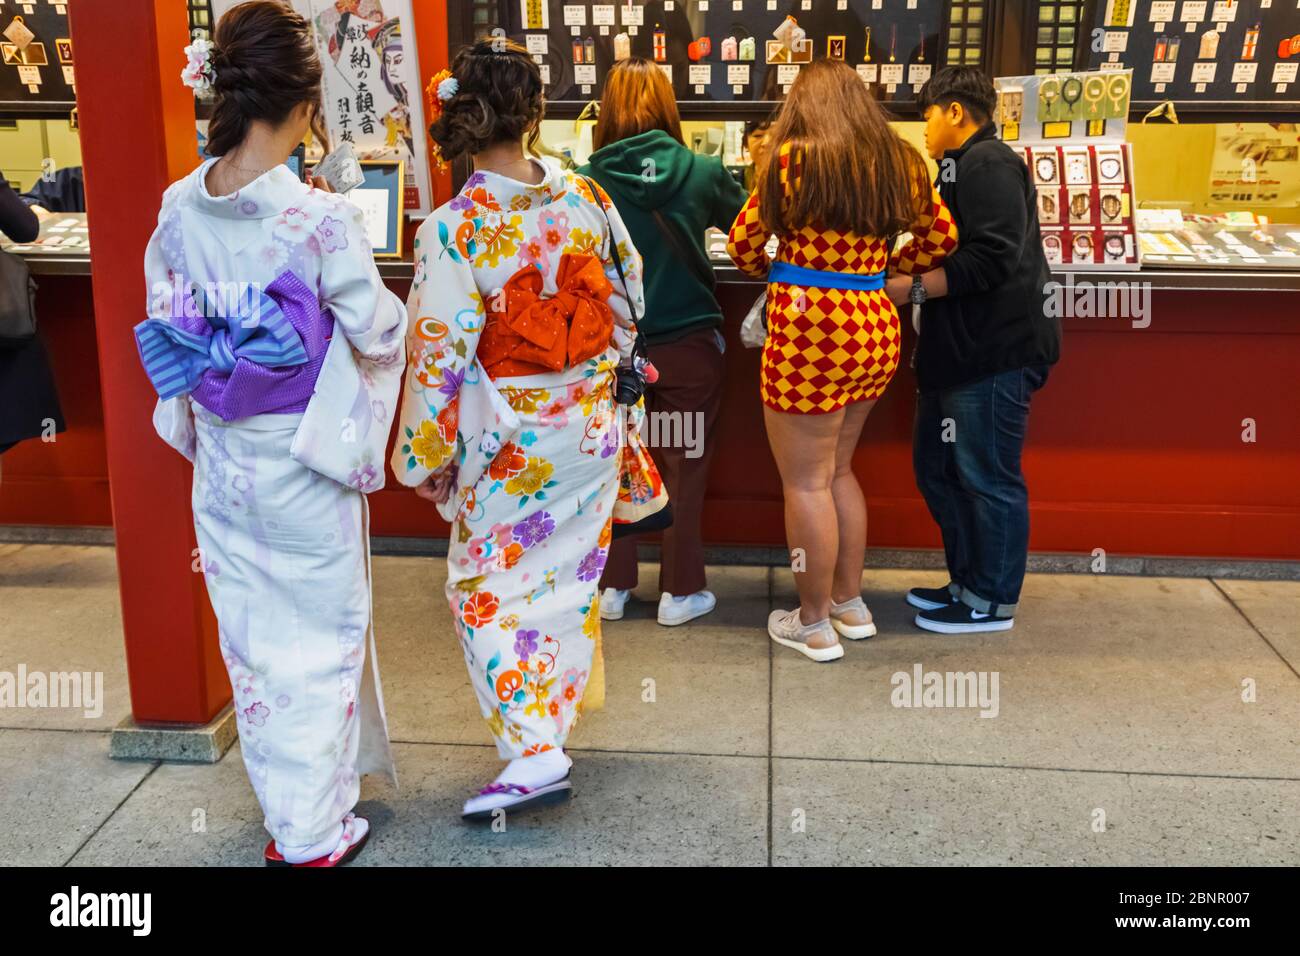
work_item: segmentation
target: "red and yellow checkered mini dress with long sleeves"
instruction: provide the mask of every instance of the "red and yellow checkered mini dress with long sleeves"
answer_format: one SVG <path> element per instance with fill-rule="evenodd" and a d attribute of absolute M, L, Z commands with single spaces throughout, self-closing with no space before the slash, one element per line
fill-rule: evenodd
<path fill-rule="evenodd" d="M 781 183 L 789 185 L 790 148 L 779 153 Z M 800 183 L 794 161 L 794 187 Z M 930 209 L 913 226 L 913 238 L 892 263 L 906 274 L 936 268 L 957 246 L 957 224 L 930 182 Z M 767 233 L 759 219 L 758 193 L 750 195 L 727 238 L 727 252 L 746 274 L 762 278 L 768 265 Z M 874 235 L 805 226 L 783 235 L 776 261 L 822 272 L 871 274 L 889 261 L 887 241 Z M 819 289 L 770 282 L 767 343 L 763 346 L 763 405 L 797 414 L 831 412 L 852 402 L 879 398 L 898 368 L 898 312 L 884 289 Z"/>

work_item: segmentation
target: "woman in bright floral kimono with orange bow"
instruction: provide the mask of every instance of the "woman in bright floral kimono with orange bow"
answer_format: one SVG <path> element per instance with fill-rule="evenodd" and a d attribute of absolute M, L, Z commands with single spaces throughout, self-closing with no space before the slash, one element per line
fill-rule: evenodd
<path fill-rule="evenodd" d="M 415 241 L 393 472 L 451 523 L 447 602 L 508 761 L 465 804 L 488 819 L 568 797 L 564 741 L 603 695 L 597 584 L 629 421 L 615 369 L 641 260 L 598 186 L 525 157 L 543 104 L 521 47 L 481 40 L 429 88 L 442 159 L 474 172 Z"/>

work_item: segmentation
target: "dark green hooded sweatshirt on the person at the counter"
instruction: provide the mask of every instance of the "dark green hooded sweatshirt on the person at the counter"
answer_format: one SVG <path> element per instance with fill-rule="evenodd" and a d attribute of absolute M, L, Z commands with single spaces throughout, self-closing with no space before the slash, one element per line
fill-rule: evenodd
<path fill-rule="evenodd" d="M 578 169 L 610 194 L 632 243 L 645 260 L 646 313 L 641 330 L 651 345 L 723 324 L 699 267 L 681 261 L 655 222 L 658 209 L 677 229 L 679 243 L 712 269 L 705 229 L 728 232 L 749 198 L 722 160 L 701 156 L 663 130 L 640 133 L 592 153 Z"/>

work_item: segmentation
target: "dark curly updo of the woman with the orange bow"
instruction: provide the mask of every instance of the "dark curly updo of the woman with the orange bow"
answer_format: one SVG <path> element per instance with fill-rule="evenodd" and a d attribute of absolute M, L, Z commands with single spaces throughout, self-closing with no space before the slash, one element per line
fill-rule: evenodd
<path fill-rule="evenodd" d="M 459 88 L 429 127 L 442 159 L 523 142 L 525 134 L 524 146 L 536 152 L 546 99 L 542 72 L 524 47 L 499 36 L 480 39 L 456 53 L 451 75 Z"/>

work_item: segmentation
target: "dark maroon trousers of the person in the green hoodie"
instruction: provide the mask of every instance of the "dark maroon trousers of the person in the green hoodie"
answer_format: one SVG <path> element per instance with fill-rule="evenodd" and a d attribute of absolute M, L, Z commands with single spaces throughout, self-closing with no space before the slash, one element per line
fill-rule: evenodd
<path fill-rule="evenodd" d="M 699 522 L 723 399 L 723 354 L 718 345 L 714 329 L 701 329 L 675 342 L 649 346 L 659 381 L 646 388 L 642 437 L 650 444 L 650 457 L 672 502 L 672 527 L 663 532 L 659 561 L 659 589 L 670 594 L 693 594 L 706 585 Z M 697 453 L 698 458 L 688 457 Z M 625 591 L 636 585 L 637 538 L 621 537 L 610 546 L 601 587 Z"/>

